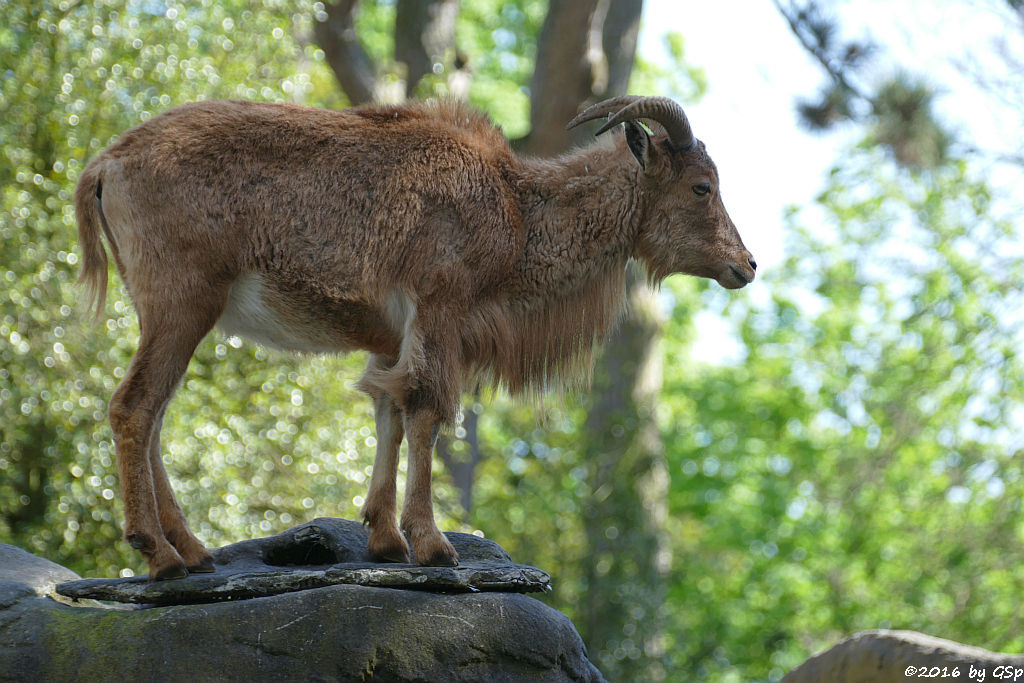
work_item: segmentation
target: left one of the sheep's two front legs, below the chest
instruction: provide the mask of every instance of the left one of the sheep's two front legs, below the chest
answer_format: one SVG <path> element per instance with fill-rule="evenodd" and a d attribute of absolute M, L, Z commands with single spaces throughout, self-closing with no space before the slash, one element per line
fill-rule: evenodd
<path fill-rule="evenodd" d="M 398 449 L 404 435 L 401 411 L 389 395 L 377 392 L 374 394 L 374 418 L 377 455 L 367 504 L 362 507 L 362 523 L 370 526 L 370 556 L 379 562 L 409 563 L 409 544 L 395 520 Z"/>

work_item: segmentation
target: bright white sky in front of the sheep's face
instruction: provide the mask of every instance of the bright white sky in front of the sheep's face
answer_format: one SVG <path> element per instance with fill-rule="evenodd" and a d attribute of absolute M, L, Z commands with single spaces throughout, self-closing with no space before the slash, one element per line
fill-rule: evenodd
<path fill-rule="evenodd" d="M 986 95 L 954 65 L 968 58 L 972 48 L 979 55 L 991 54 L 991 41 L 1004 35 L 1016 36 L 1017 43 L 1008 49 L 1024 63 L 1024 32 L 1008 32 L 1007 12 L 997 11 L 993 1 L 839 0 L 835 6 L 843 37 L 867 36 L 880 44 L 882 76 L 901 65 L 929 78 L 940 95 L 939 115 L 954 130 L 989 150 L 999 148 L 1007 139 L 1022 139 L 1022 117 L 1005 104 L 988 105 Z M 813 96 L 824 75 L 773 3 L 646 0 L 641 53 L 656 60 L 668 31 L 684 36 L 688 62 L 707 72 L 708 92 L 700 102 L 687 106 L 687 116 L 718 165 L 726 208 L 757 258 L 759 271 L 769 270 L 784 255 L 784 208 L 812 201 L 823 187 L 826 170 L 863 131 L 851 126 L 816 135 L 801 128 L 795 102 Z M 1020 150 L 1018 144 L 1008 151 Z M 996 177 L 1007 189 L 1020 183 L 1019 174 Z M 755 300 L 761 298 L 757 285 L 755 281 L 750 292 Z M 697 325 L 701 335 L 695 359 L 714 361 L 723 356 L 723 349 L 726 356 L 730 348 L 738 351 L 713 313 L 698 314 Z"/>

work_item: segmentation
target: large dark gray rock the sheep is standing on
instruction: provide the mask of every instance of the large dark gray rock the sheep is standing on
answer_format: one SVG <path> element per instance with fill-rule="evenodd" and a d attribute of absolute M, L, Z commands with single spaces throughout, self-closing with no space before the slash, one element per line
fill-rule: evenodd
<path fill-rule="evenodd" d="M 349 533 L 361 532 L 358 526 L 315 520 L 220 549 L 214 553 L 216 574 L 156 584 L 76 581 L 63 567 L 0 545 L 0 680 L 603 680 L 564 614 L 507 588 L 490 590 L 501 582 L 538 590 L 547 582 L 540 570 L 516 565 L 490 542 L 458 538 L 466 535 L 449 536 L 463 558 L 452 574 L 411 565 L 364 566 L 365 545 Z M 292 566 L 296 549 L 315 565 Z M 270 572 L 312 572 L 321 581 L 332 571 L 343 573 L 338 557 L 349 552 L 349 564 L 361 568 L 353 570 L 355 583 L 307 588 L 284 581 L 288 592 L 275 588 L 271 594 L 260 575 L 270 559 L 281 562 Z M 368 580 L 373 567 L 385 578 Z M 255 577 L 255 589 L 242 588 L 246 573 Z M 218 574 L 234 579 L 208 586 L 204 598 L 202 585 Z M 400 575 L 406 579 L 395 579 Z M 121 600 L 151 604 L 62 604 L 44 597 L 67 599 L 52 590 L 68 580 L 62 593 L 100 581 L 129 587 Z M 168 599 L 161 587 L 169 584 L 181 584 L 190 604 L 153 605 Z M 227 584 L 234 588 L 225 589 Z M 395 585 L 416 589 L 389 587 Z M 445 592 L 431 592 L 431 586 Z M 265 597 L 240 599 L 248 594 Z"/>

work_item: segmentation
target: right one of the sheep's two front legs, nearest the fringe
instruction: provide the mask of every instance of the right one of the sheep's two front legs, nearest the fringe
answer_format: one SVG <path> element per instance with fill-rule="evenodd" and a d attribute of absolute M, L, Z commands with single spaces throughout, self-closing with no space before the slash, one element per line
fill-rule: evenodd
<path fill-rule="evenodd" d="M 430 486 L 430 464 L 440 419 L 433 411 L 406 414 L 406 438 L 409 441 L 409 473 L 406 502 L 401 509 L 401 528 L 413 543 L 418 564 L 456 566 L 459 553 L 434 523 Z"/>

